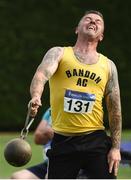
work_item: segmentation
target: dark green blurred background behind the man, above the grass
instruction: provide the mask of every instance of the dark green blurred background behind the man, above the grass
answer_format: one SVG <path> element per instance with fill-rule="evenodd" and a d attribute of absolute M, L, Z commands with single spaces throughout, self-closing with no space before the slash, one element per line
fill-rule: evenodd
<path fill-rule="evenodd" d="M 20 132 L 24 126 L 29 87 L 45 52 L 53 46 L 73 46 L 78 21 L 86 10 L 99 10 L 105 37 L 98 51 L 112 59 L 119 74 L 123 130 L 131 129 L 131 11 L 120 0 L 0 0 L 0 132 Z M 31 126 L 35 129 L 49 106 L 49 87 Z M 105 124 L 108 119 L 105 113 Z M 2 139 L 2 134 L 0 135 Z M 1 140 L 0 139 L 0 140 Z"/>

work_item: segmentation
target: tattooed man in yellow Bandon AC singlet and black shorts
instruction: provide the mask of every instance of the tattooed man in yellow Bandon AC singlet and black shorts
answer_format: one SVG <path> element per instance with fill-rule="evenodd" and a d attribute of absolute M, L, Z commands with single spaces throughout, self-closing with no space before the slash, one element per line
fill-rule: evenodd
<path fill-rule="evenodd" d="M 54 137 L 49 179 L 74 179 L 81 168 L 89 178 L 116 178 L 121 141 L 121 102 L 115 64 L 97 52 L 104 19 L 87 11 L 76 28 L 74 47 L 54 47 L 44 56 L 32 79 L 31 116 L 41 106 L 45 83 L 50 83 Z M 102 100 L 108 110 L 111 138 L 103 125 Z"/>

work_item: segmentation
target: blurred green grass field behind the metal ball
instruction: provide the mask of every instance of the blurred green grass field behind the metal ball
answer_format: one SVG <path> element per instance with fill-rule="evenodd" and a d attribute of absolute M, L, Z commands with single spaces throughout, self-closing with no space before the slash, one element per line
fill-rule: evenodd
<path fill-rule="evenodd" d="M 123 131 L 122 133 L 122 140 L 130 140 L 131 141 L 131 135 L 130 135 L 130 130 L 128 131 Z M 35 145 L 33 142 L 33 135 L 30 133 L 27 141 L 32 147 L 32 158 L 31 161 L 26 165 L 21 168 L 13 167 L 9 165 L 3 156 L 4 153 L 4 147 L 5 144 L 13 139 L 19 137 L 19 133 L 1 133 L 0 134 L 0 179 L 9 179 L 10 175 L 17 170 L 26 168 L 28 166 L 37 164 L 42 162 L 43 154 L 42 154 L 42 146 Z M 119 179 L 131 179 L 131 166 L 128 165 L 120 165 L 119 168 L 119 174 L 118 174 Z"/>

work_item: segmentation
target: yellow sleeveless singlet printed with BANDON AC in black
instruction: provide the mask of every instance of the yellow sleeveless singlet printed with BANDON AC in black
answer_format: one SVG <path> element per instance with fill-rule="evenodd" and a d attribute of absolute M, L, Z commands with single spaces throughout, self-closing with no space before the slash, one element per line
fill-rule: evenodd
<path fill-rule="evenodd" d="M 50 79 L 52 127 L 58 133 L 84 133 L 104 129 L 102 99 L 108 81 L 109 62 L 99 55 L 86 65 L 65 47 L 56 73 Z"/>

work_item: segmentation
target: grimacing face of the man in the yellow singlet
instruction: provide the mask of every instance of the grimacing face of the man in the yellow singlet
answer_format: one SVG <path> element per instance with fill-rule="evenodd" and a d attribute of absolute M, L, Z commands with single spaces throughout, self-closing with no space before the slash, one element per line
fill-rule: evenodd
<path fill-rule="evenodd" d="M 104 21 L 97 14 L 87 14 L 85 15 L 78 25 L 76 33 L 90 37 L 97 38 L 97 40 L 101 41 L 103 39 L 104 32 Z"/>

